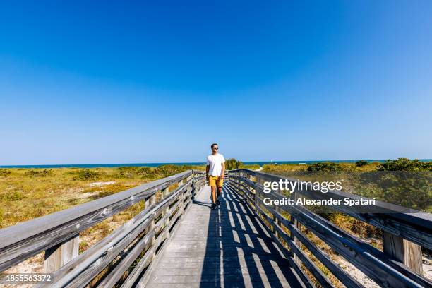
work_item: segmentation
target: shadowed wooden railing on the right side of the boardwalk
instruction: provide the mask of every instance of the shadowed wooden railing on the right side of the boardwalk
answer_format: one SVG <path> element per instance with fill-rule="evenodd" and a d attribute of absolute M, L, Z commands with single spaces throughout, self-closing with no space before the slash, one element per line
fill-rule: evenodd
<path fill-rule="evenodd" d="M 428 213 L 400 213 L 396 205 L 379 202 L 379 213 L 362 213 L 354 209 L 335 207 L 351 217 L 378 227 L 383 231 L 383 251 L 340 229 L 323 217 L 301 205 L 264 205 L 263 198 L 282 199 L 279 192 L 263 193 L 264 181 L 287 179 L 248 169 L 229 172 L 229 185 L 241 193 L 246 203 L 268 229 L 281 251 L 307 287 L 318 282 L 322 287 L 333 287 L 329 277 L 308 257 L 306 249 L 346 287 L 364 287 L 345 272 L 323 250 L 302 232 L 308 229 L 321 241 L 352 263 L 381 287 L 432 287 L 431 280 L 422 275 L 421 246 L 432 249 L 432 216 Z M 288 179 L 293 181 L 293 179 Z M 341 199 L 359 196 L 341 191 L 296 191 L 291 196 Z M 383 213 L 383 211 L 387 211 Z M 303 229 L 302 229 L 303 228 Z M 306 268 L 316 281 L 308 277 Z"/>

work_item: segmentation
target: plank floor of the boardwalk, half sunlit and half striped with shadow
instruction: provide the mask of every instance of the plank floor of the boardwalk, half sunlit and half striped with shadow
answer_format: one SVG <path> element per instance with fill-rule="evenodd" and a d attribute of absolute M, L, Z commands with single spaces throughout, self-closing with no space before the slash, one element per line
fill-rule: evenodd
<path fill-rule="evenodd" d="M 146 287 L 302 287 L 288 260 L 232 188 L 210 210 L 205 186 L 152 268 Z"/>

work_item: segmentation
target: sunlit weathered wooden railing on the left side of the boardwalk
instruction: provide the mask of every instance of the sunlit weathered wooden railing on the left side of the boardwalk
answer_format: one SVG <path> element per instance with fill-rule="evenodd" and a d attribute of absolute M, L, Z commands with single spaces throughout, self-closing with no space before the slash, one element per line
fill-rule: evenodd
<path fill-rule="evenodd" d="M 0 272 L 45 251 L 45 272 L 54 273 L 48 287 L 84 287 L 102 270 L 108 272 L 98 287 L 113 287 L 120 279 L 121 287 L 135 287 L 146 281 L 155 255 L 204 183 L 202 172 L 188 170 L 1 229 Z M 79 232 L 142 200 L 144 210 L 78 255 Z"/>

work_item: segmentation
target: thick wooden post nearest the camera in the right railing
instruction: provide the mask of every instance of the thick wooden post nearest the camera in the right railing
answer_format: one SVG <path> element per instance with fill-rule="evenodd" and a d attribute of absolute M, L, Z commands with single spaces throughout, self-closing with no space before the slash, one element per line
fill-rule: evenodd
<path fill-rule="evenodd" d="M 395 260 L 404 263 L 414 272 L 423 275 L 421 246 L 383 231 L 383 251 Z"/>

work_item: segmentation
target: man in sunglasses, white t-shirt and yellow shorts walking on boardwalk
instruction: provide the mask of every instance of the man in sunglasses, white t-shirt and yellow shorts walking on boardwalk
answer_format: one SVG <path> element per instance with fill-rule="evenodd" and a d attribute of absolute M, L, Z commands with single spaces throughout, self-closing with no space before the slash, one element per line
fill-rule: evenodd
<path fill-rule="evenodd" d="M 205 168 L 205 174 L 208 185 L 212 188 L 212 209 L 215 209 L 216 205 L 220 205 L 218 198 L 222 193 L 222 185 L 224 184 L 225 159 L 224 155 L 217 152 L 217 150 L 219 150 L 219 145 L 217 145 L 217 143 L 213 143 L 210 148 L 212 148 L 212 155 L 207 156 L 207 167 Z"/>

